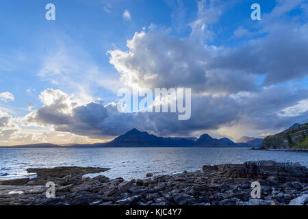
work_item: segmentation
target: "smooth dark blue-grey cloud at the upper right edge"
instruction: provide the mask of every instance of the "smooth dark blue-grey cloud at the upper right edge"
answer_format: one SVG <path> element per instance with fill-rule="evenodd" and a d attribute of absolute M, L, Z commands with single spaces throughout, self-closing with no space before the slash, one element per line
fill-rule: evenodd
<path fill-rule="evenodd" d="M 216 70 L 239 72 L 241 75 L 264 75 L 266 86 L 308 75 L 307 30 L 294 25 L 276 27 L 264 38 L 247 45 L 226 49 L 209 64 Z"/>

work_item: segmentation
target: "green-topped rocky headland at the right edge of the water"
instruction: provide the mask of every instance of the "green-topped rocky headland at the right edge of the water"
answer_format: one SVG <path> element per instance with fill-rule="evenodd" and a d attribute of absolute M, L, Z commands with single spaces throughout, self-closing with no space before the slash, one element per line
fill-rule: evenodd
<path fill-rule="evenodd" d="M 264 138 L 261 149 L 308 149 L 308 123 L 296 125 L 274 136 Z"/>

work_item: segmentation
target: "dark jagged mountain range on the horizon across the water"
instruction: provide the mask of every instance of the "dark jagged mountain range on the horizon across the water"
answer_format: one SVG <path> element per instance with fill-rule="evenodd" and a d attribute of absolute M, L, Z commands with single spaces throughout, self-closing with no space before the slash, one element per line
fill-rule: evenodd
<path fill-rule="evenodd" d="M 244 139 L 245 138 L 245 139 Z M 242 140 L 241 140 L 242 139 Z M 118 136 L 111 142 L 98 144 L 27 144 L 10 146 L 16 148 L 47 148 L 47 147 L 254 147 L 260 146 L 261 139 L 242 137 L 240 142 L 233 142 L 229 138 L 211 138 L 209 134 L 203 134 L 199 138 L 164 138 L 149 134 L 146 131 L 132 129 L 122 136 Z M 259 142 L 259 143 L 258 143 Z"/>

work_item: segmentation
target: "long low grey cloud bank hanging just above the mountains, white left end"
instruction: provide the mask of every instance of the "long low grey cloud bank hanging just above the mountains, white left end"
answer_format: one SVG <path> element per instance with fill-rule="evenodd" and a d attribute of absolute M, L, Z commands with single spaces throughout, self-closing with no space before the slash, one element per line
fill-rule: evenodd
<path fill-rule="evenodd" d="M 190 120 L 178 120 L 175 113 L 118 112 L 116 103 L 80 105 L 60 90 L 44 90 L 40 96 L 44 105 L 27 116 L 26 125 L 52 125 L 55 131 L 95 139 L 112 138 L 133 128 L 159 136 L 190 136 L 203 130 L 245 124 L 264 132 L 308 119 L 308 112 L 303 110 L 296 115 L 277 113 L 307 100 L 307 89 L 271 87 L 227 96 L 193 96 Z"/>

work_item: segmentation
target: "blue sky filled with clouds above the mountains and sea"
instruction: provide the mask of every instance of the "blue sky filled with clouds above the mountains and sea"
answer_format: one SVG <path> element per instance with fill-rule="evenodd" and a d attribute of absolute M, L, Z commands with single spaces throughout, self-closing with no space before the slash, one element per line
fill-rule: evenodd
<path fill-rule="evenodd" d="M 0 18 L 0 145 L 133 128 L 264 138 L 308 121 L 308 1 L 11 0 Z M 119 112 L 118 90 L 136 87 L 191 88 L 190 119 Z"/>

